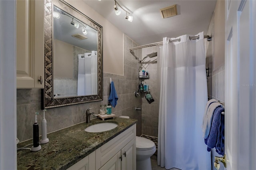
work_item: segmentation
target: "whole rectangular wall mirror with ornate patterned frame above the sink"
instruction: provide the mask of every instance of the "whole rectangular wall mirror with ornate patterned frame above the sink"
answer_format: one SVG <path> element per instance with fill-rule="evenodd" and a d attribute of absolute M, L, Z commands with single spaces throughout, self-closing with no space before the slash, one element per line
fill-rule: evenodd
<path fill-rule="evenodd" d="M 64 0 L 44 9 L 43 107 L 102 100 L 102 26 Z"/>

